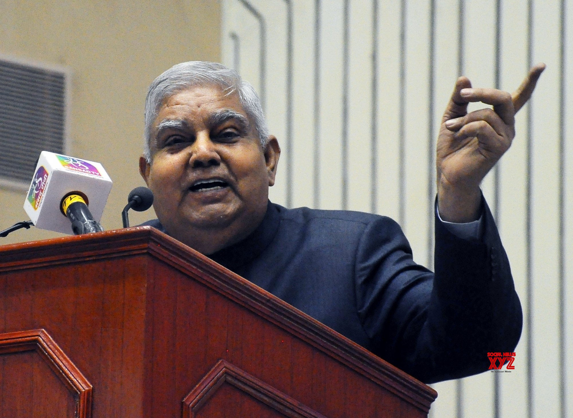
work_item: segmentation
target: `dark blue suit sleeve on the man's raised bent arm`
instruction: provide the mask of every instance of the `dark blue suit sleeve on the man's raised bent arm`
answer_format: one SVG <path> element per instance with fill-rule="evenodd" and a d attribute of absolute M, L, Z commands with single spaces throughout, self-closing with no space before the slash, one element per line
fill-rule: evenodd
<path fill-rule="evenodd" d="M 507 255 L 484 200 L 480 240 L 435 219 L 435 273 L 414 263 L 398 224 L 368 224 L 356 250 L 356 304 L 374 353 L 427 383 L 488 370 L 511 352 L 522 314 Z"/>

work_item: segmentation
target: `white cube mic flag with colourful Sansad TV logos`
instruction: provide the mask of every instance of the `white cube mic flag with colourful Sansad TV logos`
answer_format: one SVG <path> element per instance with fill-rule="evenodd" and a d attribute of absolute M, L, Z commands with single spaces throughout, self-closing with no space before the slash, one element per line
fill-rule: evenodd
<path fill-rule="evenodd" d="M 42 151 L 24 210 L 38 228 L 73 234 L 72 224 L 60 210 L 62 198 L 70 192 L 81 192 L 88 198 L 93 219 L 99 222 L 111 186 L 100 163 Z"/>

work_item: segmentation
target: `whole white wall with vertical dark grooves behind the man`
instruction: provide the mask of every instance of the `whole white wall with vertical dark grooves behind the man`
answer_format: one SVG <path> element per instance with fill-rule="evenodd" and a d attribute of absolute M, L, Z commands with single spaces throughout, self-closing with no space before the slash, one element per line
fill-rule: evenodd
<path fill-rule="evenodd" d="M 241 73 L 260 89 L 259 23 L 246 11 L 244 1 L 223 2 L 227 31 L 223 34 L 223 59 L 227 64 L 233 62 L 236 45 L 229 36 L 232 31 L 240 40 Z M 474 86 L 493 87 L 498 79 L 501 88 L 513 91 L 527 72 L 530 52 L 533 62 L 547 62 L 531 108 L 531 136 L 526 106 L 516 117 L 512 148 L 499 164 L 497 194 L 493 173 L 482 184 L 492 211 L 499 215 L 500 234 L 524 310 L 516 368 L 511 373 L 488 372 L 434 385 L 439 397 L 431 415 L 559 416 L 563 403 L 567 409 L 561 416 L 573 416 L 571 123 L 565 124 L 561 172 L 559 131 L 560 115 L 570 116 L 573 109 L 573 66 L 568 56 L 566 107 L 561 109 L 562 1 L 532 0 L 530 28 L 529 2 L 520 0 L 293 0 L 290 135 L 286 132 L 288 3 L 249 2 L 260 10 L 267 25 L 267 113 L 283 150 L 272 199 L 286 203 L 290 187 L 293 206 L 347 207 L 391 216 L 405 227 L 415 259 L 430 267 L 433 198 L 429 195 L 435 192 L 435 144 L 429 140 L 437 136 L 458 73 L 461 70 Z M 568 11 L 568 29 L 573 0 L 563 4 Z M 573 43 L 571 30 L 565 35 L 564 50 L 568 52 Z M 469 110 L 481 107 L 472 104 Z M 287 143 L 292 144 L 291 149 Z M 286 161 L 291 164 L 289 184 Z M 560 199 L 564 199 L 563 219 Z M 564 226 L 563 245 L 560 226 Z M 564 277 L 559 276 L 561 249 Z M 563 393 L 562 376 L 566 378 Z"/>

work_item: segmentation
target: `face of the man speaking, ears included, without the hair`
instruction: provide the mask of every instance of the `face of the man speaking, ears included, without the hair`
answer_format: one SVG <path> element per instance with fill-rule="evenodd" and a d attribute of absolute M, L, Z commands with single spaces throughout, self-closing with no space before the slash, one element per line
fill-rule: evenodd
<path fill-rule="evenodd" d="M 260 224 L 280 148 L 261 148 L 237 94 L 214 85 L 163 101 L 152 132 L 151 164 L 140 172 L 171 236 L 203 254 L 244 239 Z"/>

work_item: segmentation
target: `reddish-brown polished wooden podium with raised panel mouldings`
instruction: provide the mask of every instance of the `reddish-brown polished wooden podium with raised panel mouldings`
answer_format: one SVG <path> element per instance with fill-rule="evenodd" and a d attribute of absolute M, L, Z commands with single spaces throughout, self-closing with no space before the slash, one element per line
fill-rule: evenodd
<path fill-rule="evenodd" d="M 0 417 L 422 417 L 437 393 L 149 227 L 0 247 Z"/>

